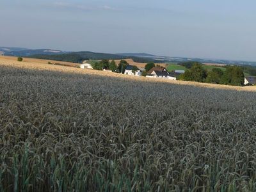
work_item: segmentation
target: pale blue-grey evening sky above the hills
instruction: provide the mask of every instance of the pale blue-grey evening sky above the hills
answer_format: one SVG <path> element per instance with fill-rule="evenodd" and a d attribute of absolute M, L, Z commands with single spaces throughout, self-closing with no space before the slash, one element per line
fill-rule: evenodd
<path fill-rule="evenodd" d="M 0 46 L 256 61 L 255 0 L 1 0 Z"/>

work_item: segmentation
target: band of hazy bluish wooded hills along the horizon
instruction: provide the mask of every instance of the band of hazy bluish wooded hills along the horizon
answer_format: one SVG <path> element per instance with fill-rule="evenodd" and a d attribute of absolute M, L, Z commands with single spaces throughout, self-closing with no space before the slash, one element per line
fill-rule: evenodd
<path fill-rule="evenodd" d="M 234 61 L 234 60 L 217 60 L 217 59 L 202 59 L 202 58 L 181 58 L 170 56 L 156 56 L 147 53 L 118 53 L 108 54 L 100 52 L 79 51 L 79 52 L 66 52 L 54 49 L 26 49 L 22 47 L 0 47 L 0 54 L 6 56 L 24 56 L 31 58 L 41 58 L 58 61 L 69 61 L 75 63 L 82 63 L 83 60 L 120 60 L 132 58 L 138 63 L 180 63 L 186 61 L 198 61 L 200 63 L 214 63 L 223 65 L 253 65 L 256 66 L 255 61 Z"/>

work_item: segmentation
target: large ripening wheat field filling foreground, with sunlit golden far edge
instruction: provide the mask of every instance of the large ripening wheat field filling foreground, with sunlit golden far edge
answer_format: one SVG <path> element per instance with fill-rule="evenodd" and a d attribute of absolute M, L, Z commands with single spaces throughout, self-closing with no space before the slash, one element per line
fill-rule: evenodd
<path fill-rule="evenodd" d="M 0 191 L 256 191 L 253 91 L 1 57 Z"/>

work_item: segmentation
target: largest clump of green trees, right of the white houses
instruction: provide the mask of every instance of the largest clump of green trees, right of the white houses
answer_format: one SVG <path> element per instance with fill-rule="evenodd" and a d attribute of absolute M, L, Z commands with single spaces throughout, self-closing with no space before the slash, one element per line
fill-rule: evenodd
<path fill-rule="evenodd" d="M 191 68 L 179 76 L 179 79 L 205 83 L 244 85 L 243 68 L 238 66 L 228 66 L 224 72 L 220 68 L 212 68 L 211 71 L 207 72 L 202 67 L 202 64 L 193 63 Z"/>

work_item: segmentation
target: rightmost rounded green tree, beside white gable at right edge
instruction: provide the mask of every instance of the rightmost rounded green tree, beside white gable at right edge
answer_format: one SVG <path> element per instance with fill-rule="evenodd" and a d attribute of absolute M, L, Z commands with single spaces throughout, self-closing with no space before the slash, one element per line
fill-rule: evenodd
<path fill-rule="evenodd" d="M 230 84 L 243 86 L 244 85 L 244 72 L 243 68 L 238 66 L 228 66 L 227 70 L 221 77 L 221 84 Z"/>

